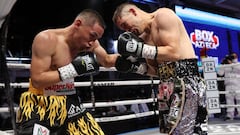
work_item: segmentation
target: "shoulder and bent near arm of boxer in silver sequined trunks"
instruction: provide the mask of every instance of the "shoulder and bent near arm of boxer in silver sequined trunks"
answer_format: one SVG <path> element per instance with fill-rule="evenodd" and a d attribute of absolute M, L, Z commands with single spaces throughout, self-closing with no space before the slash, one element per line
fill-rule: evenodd
<path fill-rule="evenodd" d="M 176 60 L 179 58 L 177 52 L 180 47 L 179 20 L 172 12 L 162 13 L 159 16 L 163 18 L 168 16 L 168 20 L 158 19 L 156 21 L 156 36 L 153 36 L 153 40 L 158 45 L 157 60 L 159 62 Z"/>

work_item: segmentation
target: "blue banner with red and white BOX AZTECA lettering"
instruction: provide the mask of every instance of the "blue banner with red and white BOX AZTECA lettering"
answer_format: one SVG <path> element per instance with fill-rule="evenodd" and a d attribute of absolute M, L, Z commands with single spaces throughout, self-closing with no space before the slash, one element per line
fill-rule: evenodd
<path fill-rule="evenodd" d="M 201 60 L 201 55 L 217 58 L 218 63 L 229 54 L 227 29 L 206 24 L 184 21 L 195 53 Z"/>

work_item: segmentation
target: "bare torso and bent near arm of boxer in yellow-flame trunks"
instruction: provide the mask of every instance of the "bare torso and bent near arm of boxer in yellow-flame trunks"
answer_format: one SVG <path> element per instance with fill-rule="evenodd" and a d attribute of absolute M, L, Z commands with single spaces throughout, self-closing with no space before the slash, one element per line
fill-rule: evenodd
<path fill-rule="evenodd" d="M 49 29 L 35 37 L 31 62 L 34 87 L 41 89 L 59 82 L 57 69 L 69 64 L 79 53 L 80 48 L 74 47 L 67 36 L 66 29 Z"/>

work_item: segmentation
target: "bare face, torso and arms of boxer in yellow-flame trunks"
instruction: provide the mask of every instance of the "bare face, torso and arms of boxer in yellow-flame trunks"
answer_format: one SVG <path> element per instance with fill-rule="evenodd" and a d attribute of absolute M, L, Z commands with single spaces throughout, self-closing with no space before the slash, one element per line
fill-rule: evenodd
<path fill-rule="evenodd" d="M 32 45 L 31 80 L 36 89 L 43 89 L 60 82 L 57 68 L 69 64 L 82 51 L 96 54 L 100 65 L 113 67 L 117 54 L 107 54 L 98 39 L 104 29 L 95 23 L 84 24 L 76 18 L 72 25 L 49 29 L 36 35 Z"/>

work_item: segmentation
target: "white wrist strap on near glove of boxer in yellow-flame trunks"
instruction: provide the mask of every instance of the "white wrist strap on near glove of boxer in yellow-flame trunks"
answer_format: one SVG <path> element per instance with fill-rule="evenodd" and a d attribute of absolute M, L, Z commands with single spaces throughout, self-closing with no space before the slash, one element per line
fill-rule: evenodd
<path fill-rule="evenodd" d="M 62 81 L 68 80 L 78 76 L 77 71 L 75 70 L 72 63 L 58 68 L 59 76 Z"/>

